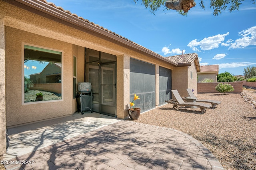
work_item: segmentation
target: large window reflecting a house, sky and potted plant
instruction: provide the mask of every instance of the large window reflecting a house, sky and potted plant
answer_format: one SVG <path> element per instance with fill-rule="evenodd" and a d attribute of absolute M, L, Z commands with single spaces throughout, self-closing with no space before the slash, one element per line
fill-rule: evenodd
<path fill-rule="evenodd" d="M 22 103 L 61 100 L 62 51 L 27 44 L 22 47 Z"/>

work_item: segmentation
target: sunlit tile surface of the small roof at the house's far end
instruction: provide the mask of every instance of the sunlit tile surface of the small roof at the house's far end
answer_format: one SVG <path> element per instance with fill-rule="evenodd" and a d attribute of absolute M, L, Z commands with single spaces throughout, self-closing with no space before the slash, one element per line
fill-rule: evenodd
<path fill-rule="evenodd" d="M 194 63 L 197 57 L 197 53 L 183 54 L 183 55 L 174 55 L 170 57 L 166 57 L 166 59 L 174 62 L 174 63 Z"/>

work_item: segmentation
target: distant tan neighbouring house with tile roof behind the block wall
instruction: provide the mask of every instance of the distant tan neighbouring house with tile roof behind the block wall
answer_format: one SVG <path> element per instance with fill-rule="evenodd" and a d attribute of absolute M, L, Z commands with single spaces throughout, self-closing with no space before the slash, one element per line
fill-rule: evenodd
<path fill-rule="evenodd" d="M 219 65 L 202 65 L 200 66 L 201 71 L 198 72 L 198 83 L 205 78 L 213 79 L 214 82 L 217 82 L 217 75 L 219 74 Z"/>

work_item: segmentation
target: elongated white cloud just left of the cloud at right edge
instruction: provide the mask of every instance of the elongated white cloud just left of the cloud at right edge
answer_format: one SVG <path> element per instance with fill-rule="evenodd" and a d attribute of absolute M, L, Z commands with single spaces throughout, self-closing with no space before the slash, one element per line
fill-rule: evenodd
<path fill-rule="evenodd" d="M 218 48 L 219 44 L 224 42 L 225 37 L 229 34 L 227 32 L 226 34 L 218 34 L 216 36 L 204 38 L 201 41 L 198 40 L 192 40 L 190 43 L 188 43 L 188 47 L 192 48 L 193 51 L 199 51 L 198 47 L 199 46 L 202 50 L 210 50 L 214 48 Z"/>

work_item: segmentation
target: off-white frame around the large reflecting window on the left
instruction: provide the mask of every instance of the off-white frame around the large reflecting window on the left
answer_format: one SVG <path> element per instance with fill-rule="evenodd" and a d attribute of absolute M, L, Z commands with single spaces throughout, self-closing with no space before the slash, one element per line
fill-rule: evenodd
<path fill-rule="evenodd" d="M 53 50 L 53 51 L 58 51 L 58 52 L 61 52 L 61 99 L 59 99 L 59 100 L 49 100 L 49 101 L 35 101 L 35 102 L 26 102 L 25 103 L 25 101 L 24 101 L 24 98 L 25 98 L 25 94 L 24 94 L 24 83 L 25 83 L 25 81 L 24 81 L 24 53 L 25 53 L 25 50 L 24 50 L 24 46 L 25 45 L 29 45 L 29 46 L 33 46 L 33 47 L 38 47 L 38 48 L 43 48 L 43 49 L 49 49 L 49 50 Z M 64 81 L 63 81 L 63 77 L 64 77 L 64 51 L 63 50 L 60 50 L 60 49 L 53 49 L 53 48 L 48 48 L 48 47 L 43 47 L 43 46 L 40 46 L 40 45 L 34 45 L 34 44 L 30 44 L 30 43 L 24 43 L 24 42 L 22 42 L 22 53 L 21 53 L 21 70 L 22 70 L 22 76 L 21 76 L 21 79 L 22 79 L 22 88 L 21 88 L 21 90 L 22 90 L 22 93 L 21 93 L 21 95 L 22 95 L 22 99 L 21 99 L 21 101 L 22 101 L 22 105 L 34 105 L 34 104 L 39 104 L 39 103 L 51 103 L 51 102 L 60 102 L 60 101 L 64 101 L 64 95 L 63 95 L 63 93 L 64 93 Z"/>

